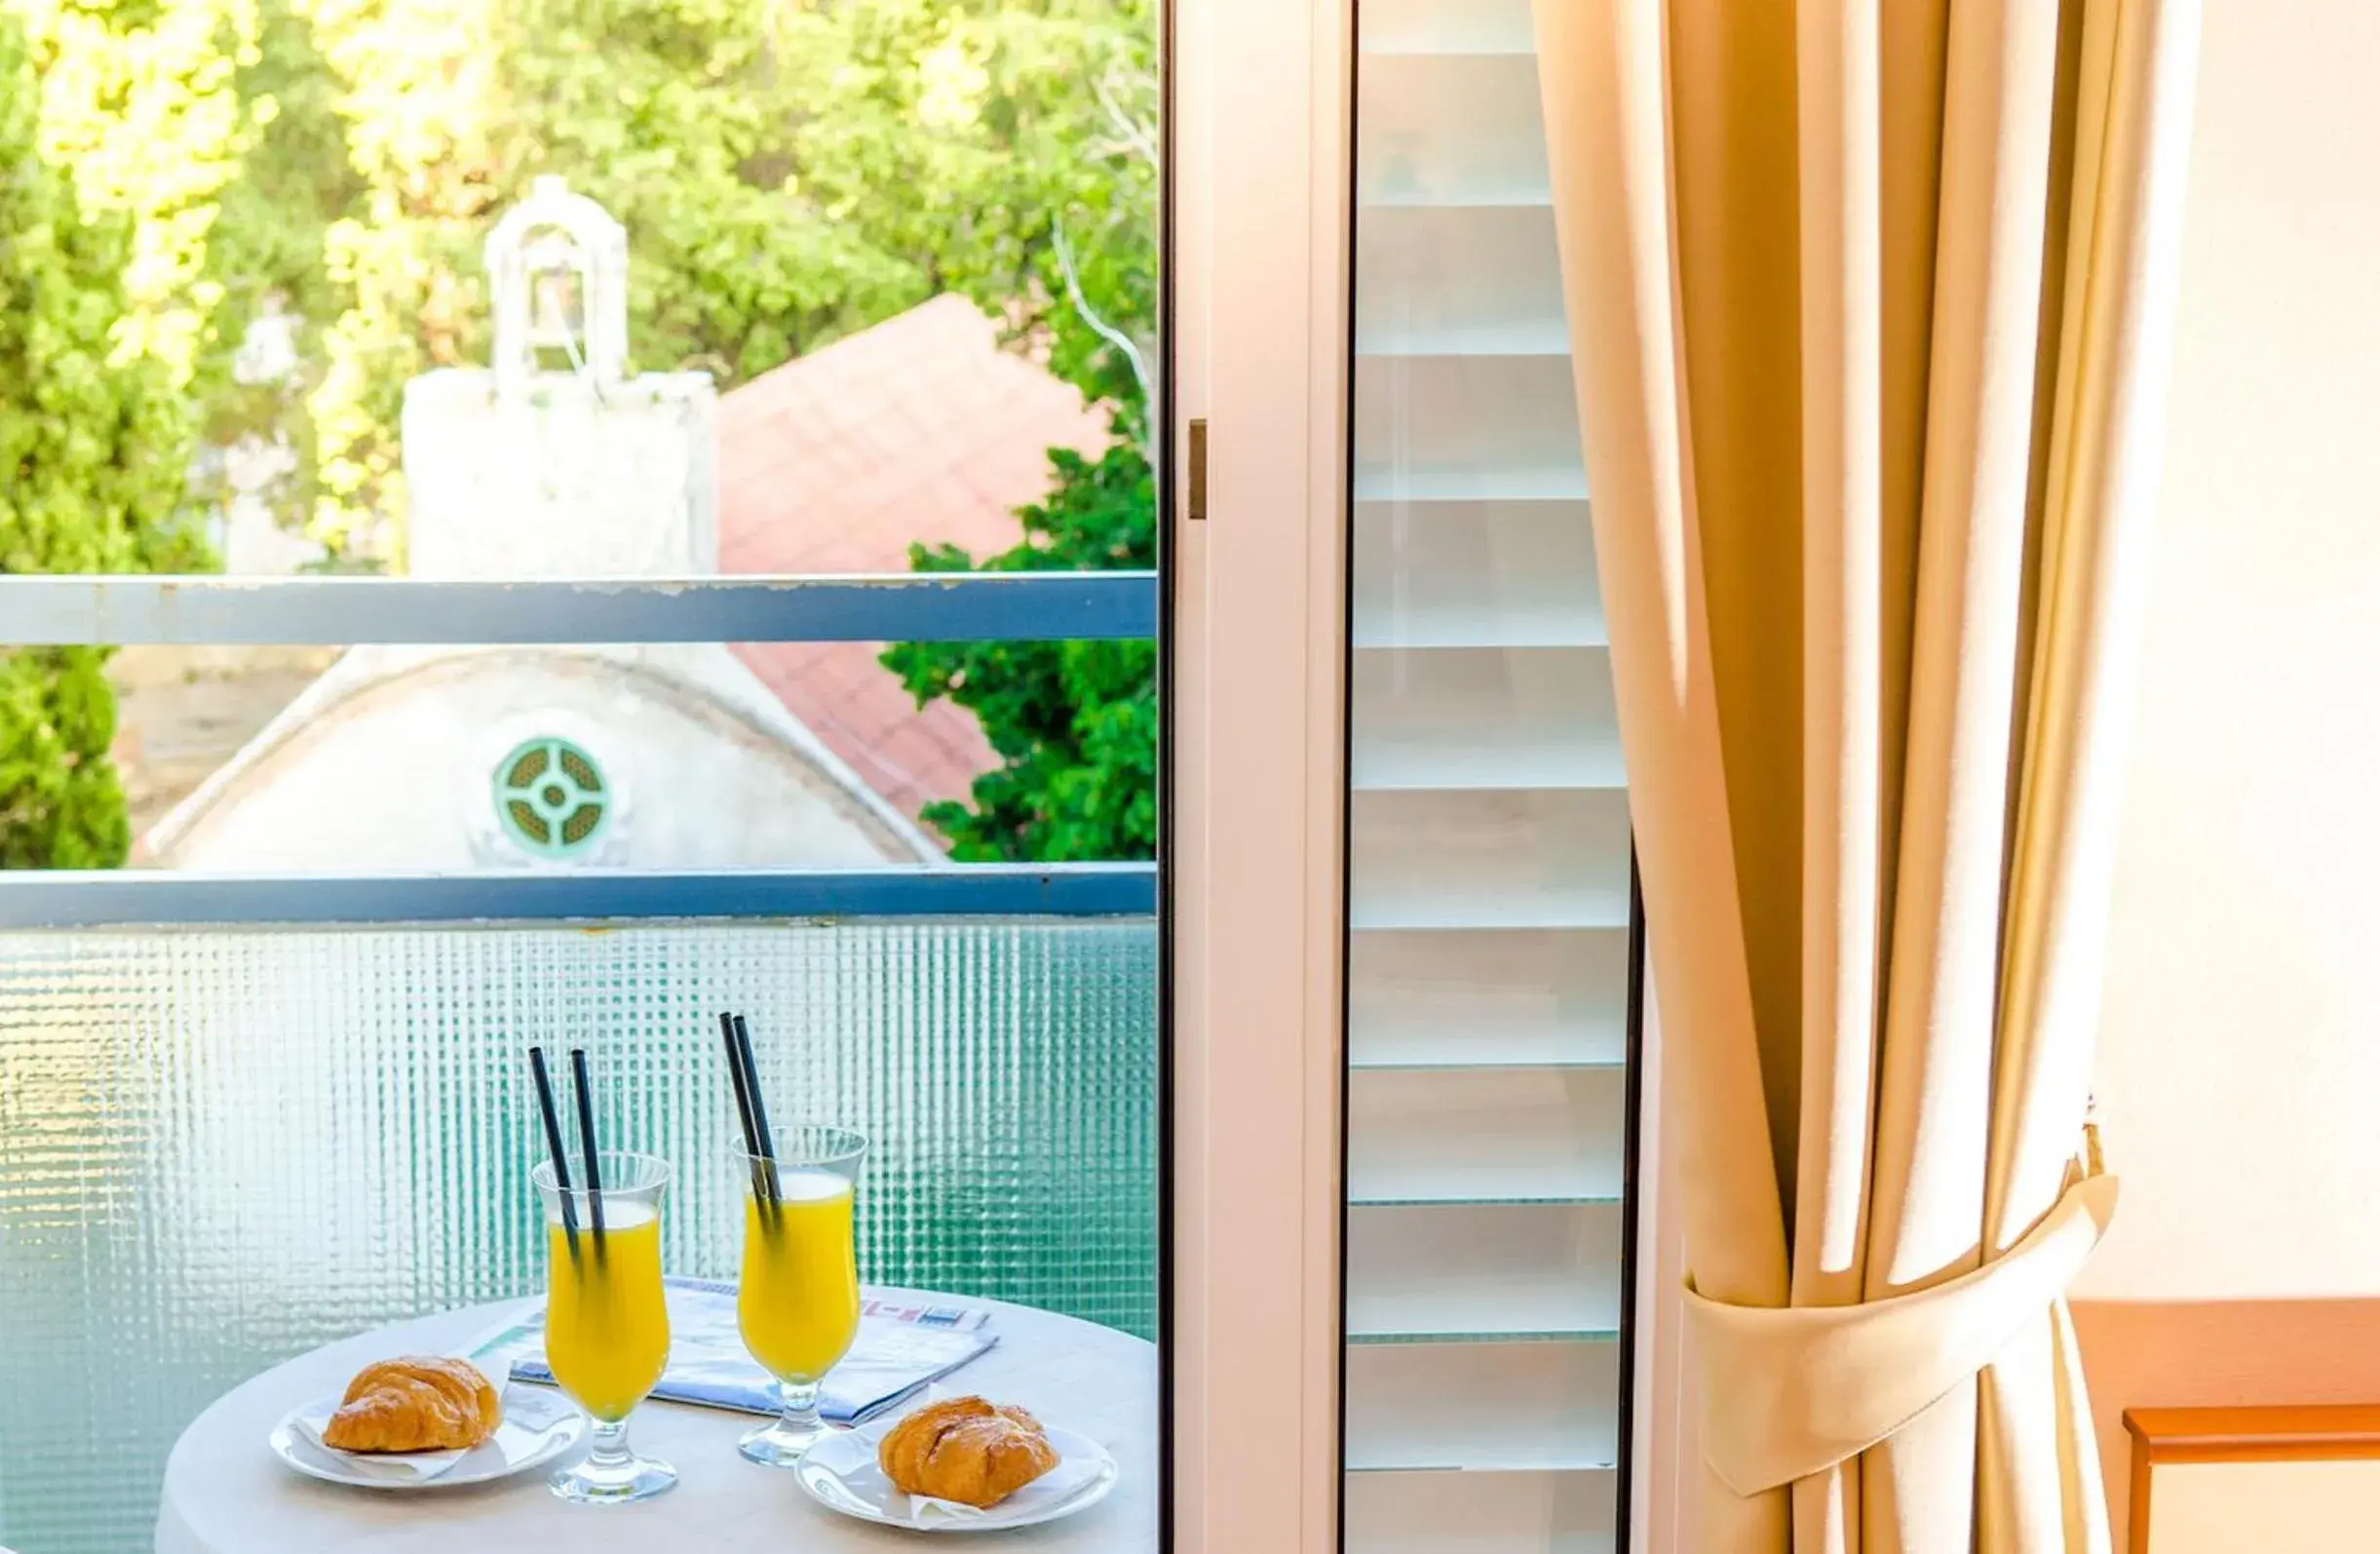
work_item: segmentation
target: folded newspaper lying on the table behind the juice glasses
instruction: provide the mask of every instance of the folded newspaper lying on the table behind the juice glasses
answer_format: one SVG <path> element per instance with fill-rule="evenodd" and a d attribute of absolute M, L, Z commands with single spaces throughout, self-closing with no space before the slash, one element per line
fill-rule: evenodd
<path fill-rule="evenodd" d="M 735 1330 L 735 1285 L 707 1278 L 664 1278 L 669 1302 L 669 1368 L 652 1387 L 662 1402 L 776 1414 L 776 1380 L 745 1352 Z M 859 1335 L 819 1387 L 819 1414 L 838 1425 L 864 1423 L 969 1364 L 1000 1337 L 988 1333 L 990 1309 L 919 1304 L 862 1292 Z M 545 1307 L 490 1333 L 469 1359 L 490 1376 L 555 1385 L 545 1366 Z"/>

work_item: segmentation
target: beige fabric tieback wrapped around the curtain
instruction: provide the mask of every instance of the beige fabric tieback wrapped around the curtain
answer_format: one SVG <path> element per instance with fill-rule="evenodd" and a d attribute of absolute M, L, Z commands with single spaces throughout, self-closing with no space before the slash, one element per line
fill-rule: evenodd
<path fill-rule="evenodd" d="M 1856 1307 L 1730 1307 L 1685 1290 L 1702 1373 L 1702 1456 L 1759 1495 L 1859 1456 L 1983 1371 L 2037 1321 L 2116 1216 L 2116 1178 L 2085 1176 L 2006 1257 Z"/>

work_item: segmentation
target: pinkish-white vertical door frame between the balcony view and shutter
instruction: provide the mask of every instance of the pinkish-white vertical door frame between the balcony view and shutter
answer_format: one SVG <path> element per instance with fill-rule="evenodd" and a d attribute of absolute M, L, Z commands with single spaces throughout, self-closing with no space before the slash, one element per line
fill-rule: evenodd
<path fill-rule="evenodd" d="M 1333 1554 L 1354 24 L 1171 26 L 1171 1530 Z"/>

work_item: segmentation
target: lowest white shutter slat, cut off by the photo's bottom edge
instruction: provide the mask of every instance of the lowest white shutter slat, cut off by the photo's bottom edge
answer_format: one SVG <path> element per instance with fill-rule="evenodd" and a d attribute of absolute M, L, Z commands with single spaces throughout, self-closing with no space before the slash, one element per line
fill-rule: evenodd
<path fill-rule="evenodd" d="M 1347 1554 L 1614 1554 L 1618 1473 L 1349 1473 Z"/>

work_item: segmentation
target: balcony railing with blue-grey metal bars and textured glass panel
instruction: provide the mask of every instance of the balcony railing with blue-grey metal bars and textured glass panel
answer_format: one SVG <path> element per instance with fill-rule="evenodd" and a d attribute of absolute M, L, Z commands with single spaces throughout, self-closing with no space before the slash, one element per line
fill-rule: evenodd
<path fill-rule="evenodd" d="M 1147 574 L 416 585 L 0 578 L 12 643 L 1145 638 Z M 714 1016 L 783 1116 L 866 1130 L 881 1283 L 1152 1335 L 1150 864 L 0 878 L 0 1544 L 145 1547 L 183 1423 L 400 1316 L 528 1295 L 521 1049 L 678 1166 L 733 1276 Z M 262 1447 L 259 1447 L 262 1449 Z"/>

